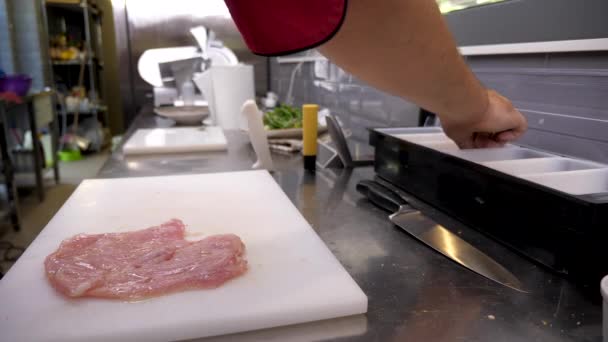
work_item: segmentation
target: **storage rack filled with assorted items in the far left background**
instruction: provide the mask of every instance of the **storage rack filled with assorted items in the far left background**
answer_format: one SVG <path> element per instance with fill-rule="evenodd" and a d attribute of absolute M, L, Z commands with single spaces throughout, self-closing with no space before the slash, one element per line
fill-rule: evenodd
<path fill-rule="evenodd" d="M 93 0 L 45 0 L 43 12 L 49 37 L 49 64 L 54 88 L 59 94 L 57 113 L 61 134 L 70 134 L 77 122 L 75 113 L 94 116 L 94 151 L 106 137 L 107 110 L 103 101 L 103 60 L 101 51 L 102 11 Z M 80 110 L 75 110 L 79 106 Z M 74 124 L 75 125 L 75 124 Z"/>

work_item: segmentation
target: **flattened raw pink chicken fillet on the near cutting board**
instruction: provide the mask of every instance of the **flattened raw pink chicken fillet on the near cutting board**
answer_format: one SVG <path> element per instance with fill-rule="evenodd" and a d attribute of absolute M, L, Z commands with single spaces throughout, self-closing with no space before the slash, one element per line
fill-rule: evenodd
<path fill-rule="evenodd" d="M 68 297 L 137 300 L 218 287 L 247 270 L 238 236 L 187 241 L 184 235 L 177 219 L 133 232 L 77 235 L 46 258 L 46 275 Z"/>

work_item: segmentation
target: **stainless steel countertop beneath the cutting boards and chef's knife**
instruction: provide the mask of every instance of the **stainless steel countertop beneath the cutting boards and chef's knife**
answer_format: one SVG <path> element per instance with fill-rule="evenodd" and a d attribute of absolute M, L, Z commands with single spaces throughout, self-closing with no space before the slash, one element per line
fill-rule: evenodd
<path fill-rule="evenodd" d="M 143 111 L 137 128 L 172 121 Z M 127 158 L 120 147 L 99 178 L 249 170 L 254 153 L 242 132 L 228 152 Z M 451 218 L 418 203 L 438 222 L 511 269 L 529 293 L 470 272 L 422 245 L 355 191 L 370 167 L 306 173 L 298 156 L 273 154 L 277 183 L 369 298 L 366 315 L 222 336 L 204 341 L 600 341 L 601 302 Z M 208 310 L 209 308 L 201 308 Z"/>

